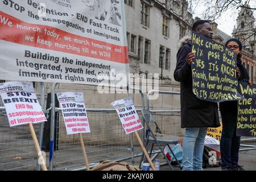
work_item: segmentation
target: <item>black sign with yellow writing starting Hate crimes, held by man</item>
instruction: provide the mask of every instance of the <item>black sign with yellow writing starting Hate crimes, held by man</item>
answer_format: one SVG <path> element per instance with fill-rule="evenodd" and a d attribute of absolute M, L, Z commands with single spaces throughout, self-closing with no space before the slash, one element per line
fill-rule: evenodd
<path fill-rule="evenodd" d="M 193 93 L 205 101 L 241 100 L 237 92 L 237 60 L 235 53 L 205 36 L 192 32 Z"/>

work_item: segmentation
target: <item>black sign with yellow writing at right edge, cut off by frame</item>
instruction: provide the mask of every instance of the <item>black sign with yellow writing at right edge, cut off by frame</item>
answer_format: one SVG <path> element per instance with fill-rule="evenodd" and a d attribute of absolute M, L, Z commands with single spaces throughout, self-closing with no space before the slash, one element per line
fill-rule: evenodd
<path fill-rule="evenodd" d="M 237 106 L 237 136 L 256 136 L 256 85 L 249 86 L 247 82 L 239 82 L 238 92 L 245 100 L 238 101 Z"/>

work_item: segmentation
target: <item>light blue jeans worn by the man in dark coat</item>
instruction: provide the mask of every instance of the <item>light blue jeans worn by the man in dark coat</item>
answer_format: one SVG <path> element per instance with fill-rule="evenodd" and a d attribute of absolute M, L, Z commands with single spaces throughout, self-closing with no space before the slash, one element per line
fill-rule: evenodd
<path fill-rule="evenodd" d="M 183 140 L 183 171 L 203 171 L 204 138 L 207 127 L 187 127 Z"/>

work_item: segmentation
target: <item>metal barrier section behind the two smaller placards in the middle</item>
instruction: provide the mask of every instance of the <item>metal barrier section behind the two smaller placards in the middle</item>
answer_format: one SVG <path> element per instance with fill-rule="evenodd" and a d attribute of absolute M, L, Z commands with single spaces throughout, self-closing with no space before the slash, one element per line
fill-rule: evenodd
<path fill-rule="evenodd" d="M 83 134 L 89 166 L 100 160 L 131 159 L 131 135 L 122 128 L 115 110 L 86 109 L 90 133 Z M 85 169 L 79 135 L 67 135 L 61 111 L 59 111 L 59 132 L 53 158 L 53 170 Z M 134 140 L 134 154 L 141 153 Z"/>

